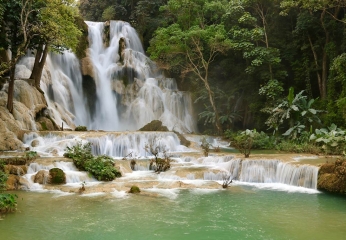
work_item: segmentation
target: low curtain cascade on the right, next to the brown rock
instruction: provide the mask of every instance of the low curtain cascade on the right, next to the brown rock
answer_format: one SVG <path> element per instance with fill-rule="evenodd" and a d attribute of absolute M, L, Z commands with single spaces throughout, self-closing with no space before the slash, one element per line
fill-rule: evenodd
<path fill-rule="evenodd" d="M 317 189 L 318 167 L 292 165 L 278 160 L 244 160 L 239 180 L 251 183 L 283 183 Z"/>

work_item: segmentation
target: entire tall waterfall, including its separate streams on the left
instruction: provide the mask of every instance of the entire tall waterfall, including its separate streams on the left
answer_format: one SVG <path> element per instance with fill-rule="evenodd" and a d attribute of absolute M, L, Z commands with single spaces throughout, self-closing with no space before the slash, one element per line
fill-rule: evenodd
<path fill-rule="evenodd" d="M 43 70 L 41 88 L 58 125 L 124 131 L 161 120 L 170 130 L 196 132 L 189 93 L 179 91 L 145 55 L 129 23 L 86 23 L 91 80 L 83 79 L 80 61 L 70 51 L 50 53 Z M 29 78 L 33 63 L 31 54 L 23 58 L 17 77 Z"/>

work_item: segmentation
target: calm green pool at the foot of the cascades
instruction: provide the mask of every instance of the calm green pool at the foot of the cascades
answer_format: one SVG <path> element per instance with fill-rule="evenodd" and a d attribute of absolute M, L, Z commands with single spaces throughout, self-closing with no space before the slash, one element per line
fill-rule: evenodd
<path fill-rule="evenodd" d="M 344 239 L 346 199 L 232 186 L 158 196 L 17 192 L 1 239 Z"/>

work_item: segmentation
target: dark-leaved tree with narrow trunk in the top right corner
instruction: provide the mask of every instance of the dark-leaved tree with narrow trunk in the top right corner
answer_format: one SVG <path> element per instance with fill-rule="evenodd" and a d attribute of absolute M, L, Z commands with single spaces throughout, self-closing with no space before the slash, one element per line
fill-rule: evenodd
<path fill-rule="evenodd" d="M 296 37 L 301 39 L 302 50 L 309 49 L 312 55 L 321 99 L 327 98 L 329 64 L 340 53 L 343 39 L 346 7 L 343 0 L 284 0 L 281 1 L 282 15 L 298 11 L 295 28 Z"/>

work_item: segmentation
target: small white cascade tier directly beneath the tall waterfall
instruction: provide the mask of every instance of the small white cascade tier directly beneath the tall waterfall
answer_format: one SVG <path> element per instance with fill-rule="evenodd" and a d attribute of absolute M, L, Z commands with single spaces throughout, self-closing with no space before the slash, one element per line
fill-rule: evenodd
<path fill-rule="evenodd" d="M 180 145 L 180 140 L 172 132 L 127 132 L 120 135 L 107 134 L 97 138 L 87 138 L 92 143 L 92 152 L 95 155 L 109 155 L 112 157 L 150 157 L 145 150 L 147 144 L 160 148 L 160 152 L 187 152 L 187 147 Z"/>

